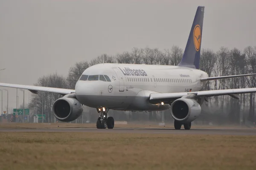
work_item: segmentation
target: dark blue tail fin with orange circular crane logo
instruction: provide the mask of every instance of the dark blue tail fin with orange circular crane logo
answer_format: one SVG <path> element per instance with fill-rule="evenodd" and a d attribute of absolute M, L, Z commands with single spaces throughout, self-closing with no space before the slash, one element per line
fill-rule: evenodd
<path fill-rule="evenodd" d="M 201 40 L 204 21 L 204 6 L 198 6 L 189 39 L 179 66 L 199 69 Z"/>

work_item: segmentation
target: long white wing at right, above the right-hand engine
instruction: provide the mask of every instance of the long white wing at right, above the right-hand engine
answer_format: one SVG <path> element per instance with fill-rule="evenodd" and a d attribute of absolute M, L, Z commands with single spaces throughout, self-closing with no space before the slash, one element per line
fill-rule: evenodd
<path fill-rule="evenodd" d="M 150 94 L 149 101 L 153 104 L 160 103 L 160 102 L 172 102 L 176 99 L 179 99 L 189 94 L 195 95 L 196 97 L 197 96 L 211 97 L 211 96 L 229 95 L 235 99 L 239 99 L 238 94 L 244 94 L 244 93 L 256 93 L 256 88 L 237 88 L 237 89 L 225 89 L 225 90 L 213 90 L 213 91 Z"/>

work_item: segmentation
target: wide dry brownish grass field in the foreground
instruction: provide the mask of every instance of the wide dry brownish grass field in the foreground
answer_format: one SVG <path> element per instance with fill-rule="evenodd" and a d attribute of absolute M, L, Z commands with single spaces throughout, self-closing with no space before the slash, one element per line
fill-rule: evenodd
<path fill-rule="evenodd" d="M 255 170 L 255 136 L 0 133 L 1 170 Z"/>

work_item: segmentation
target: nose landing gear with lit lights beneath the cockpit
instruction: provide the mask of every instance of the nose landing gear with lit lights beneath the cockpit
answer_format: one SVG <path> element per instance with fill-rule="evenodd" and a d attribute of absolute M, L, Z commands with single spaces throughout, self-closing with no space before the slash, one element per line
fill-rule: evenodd
<path fill-rule="evenodd" d="M 114 118 L 109 116 L 108 117 L 108 110 L 106 108 L 97 108 L 97 112 L 100 113 L 100 116 L 96 122 L 97 129 L 113 129 L 115 122 Z"/>

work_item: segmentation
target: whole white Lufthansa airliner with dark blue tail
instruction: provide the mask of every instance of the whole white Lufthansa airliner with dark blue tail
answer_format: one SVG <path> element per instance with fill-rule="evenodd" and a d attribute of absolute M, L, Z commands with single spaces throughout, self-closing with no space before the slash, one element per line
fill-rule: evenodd
<path fill-rule="evenodd" d="M 209 80 L 251 76 L 255 74 L 209 77 L 199 70 L 204 6 L 198 6 L 183 58 L 177 66 L 102 63 L 87 68 L 75 90 L 0 83 L 9 88 L 62 94 L 53 104 L 54 116 L 70 122 L 81 116 L 82 105 L 96 108 L 100 114 L 97 128 L 112 129 L 114 119 L 109 109 L 119 111 L 163 111 L 170 109 L 175 129 L 186 130 L 201 113 L 208 97 L 255 93 L 256 88 L 200 91 Z"/>

